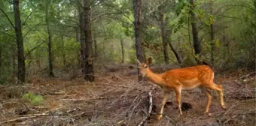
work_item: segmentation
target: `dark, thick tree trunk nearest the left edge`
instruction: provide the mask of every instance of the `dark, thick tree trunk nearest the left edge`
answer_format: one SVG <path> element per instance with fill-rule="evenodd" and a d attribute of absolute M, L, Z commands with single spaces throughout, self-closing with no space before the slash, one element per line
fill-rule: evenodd
<path fill-rule="evenodd" d="M 14 21 L 15 21 L 15 34 L 18 50 L 18 83 L 25 82 L 25 57 L 24 57 L 24 46 L 23 46 L 23 36 L 21 31 L 21 21 L 20 21 L 20 1 L 14 0 Z"/>

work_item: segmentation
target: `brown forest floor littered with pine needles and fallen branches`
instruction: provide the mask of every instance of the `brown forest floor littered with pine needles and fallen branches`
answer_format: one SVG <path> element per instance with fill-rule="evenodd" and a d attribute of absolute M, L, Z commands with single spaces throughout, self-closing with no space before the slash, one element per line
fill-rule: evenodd
<path fill-rule="evenodd" d="M 157 70 L 155 67 L 153 71 Z M 0 125 L 130 126 L 139 125 L 148 115 L 148 92 L 154 85 L 138 83 L 135 66 L 103 67 L 93 83 L 85 82 L 79 74 L 64 73 L 68 72 L 60 72 L 55 79 L 31 77 L 22 86 L 0 86 Z M 224 87 L 227 110 L 221 109 L 218 92 L 213 92 L 212 115 L 205 115 L 206 96 L 195 89 L 181 93 L 181 102 L 191 104 L 192 109 L 179 115 L 172 92 L 163 118 L 157 121 L 163 92 L 154 86 L 153 111 L 145 125 L 256 125 L 256 75 L 245 70 L 229 71 L 217 74 L 215 82 Z M 24 101 L 29 92 L 44 100 L 39 104 Z"/>

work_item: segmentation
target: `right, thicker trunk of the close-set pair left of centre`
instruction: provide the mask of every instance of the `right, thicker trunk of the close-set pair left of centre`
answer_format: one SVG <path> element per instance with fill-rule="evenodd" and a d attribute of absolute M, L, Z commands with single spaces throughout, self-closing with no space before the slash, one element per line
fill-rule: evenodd
<path fill-rule="evenodd" d="M 95 80 L 93 71 L 93 39 L 90 21 L 90 0 L 84 0 L 84 21 L 85 21 L 85 77 L 84 80 L 93 82 Z"/>

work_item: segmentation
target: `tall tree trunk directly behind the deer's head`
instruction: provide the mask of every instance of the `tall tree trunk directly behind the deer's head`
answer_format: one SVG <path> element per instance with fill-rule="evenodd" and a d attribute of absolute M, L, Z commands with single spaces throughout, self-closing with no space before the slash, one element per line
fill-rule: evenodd
<path fill-rule="evenodd" d="M 145 57 L 143 55 L 142 49 L 142 0 L 133 0 L 133 17 L 134 17 L 134 31 L 135 31 L 135 46 L 136 46 L 136 56 L 139 62 L 145 62 Z M 142 81 L 142 75 L 139 74 L 138 68 L 138 78 Z"/>

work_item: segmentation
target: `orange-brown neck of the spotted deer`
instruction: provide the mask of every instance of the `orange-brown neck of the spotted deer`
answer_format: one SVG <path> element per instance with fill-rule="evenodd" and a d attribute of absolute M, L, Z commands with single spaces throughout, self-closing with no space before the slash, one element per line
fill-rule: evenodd
<path fill-rule="evenodd" d="M 148 78 L 148 80 L 151 80 L 151 82 L 156 83 L 159 86 L 164 84 L 162 74 L 155 74 L 150 69 L 147 70 L 146 77 Z"/>

